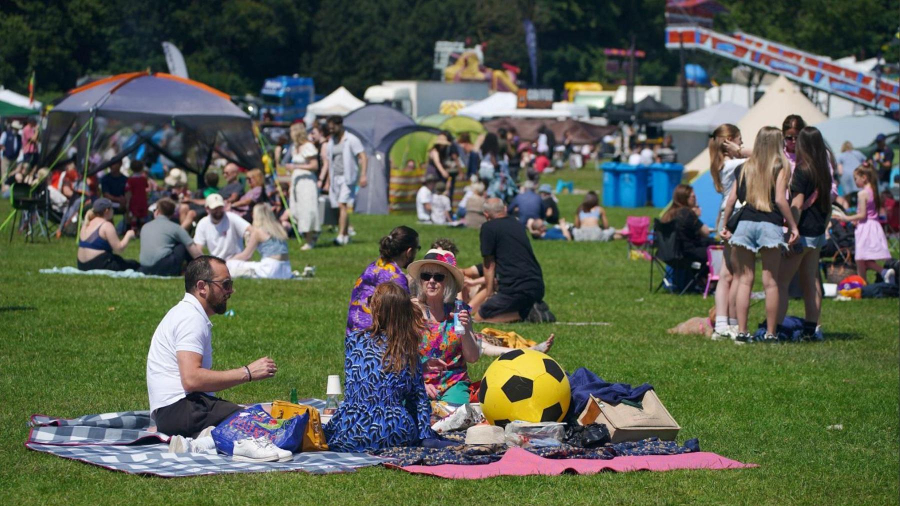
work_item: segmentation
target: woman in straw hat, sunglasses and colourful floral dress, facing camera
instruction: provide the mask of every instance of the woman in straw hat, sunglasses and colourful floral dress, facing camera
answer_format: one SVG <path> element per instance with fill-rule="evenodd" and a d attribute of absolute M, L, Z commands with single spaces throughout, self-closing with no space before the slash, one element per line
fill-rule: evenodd
<path fill-rule="evenodd" d="M 478 361 L 480 351 L 472 331 L 469 305 L 456 299 L 463 287 L 463 271 L 454 254 L 429 249 L 425 258 L 410 264 L 414 294 L 425 315 L 419 353 L 425 367 L 425 390 L 437 401 L 469 402 L 466 363 Z"/>

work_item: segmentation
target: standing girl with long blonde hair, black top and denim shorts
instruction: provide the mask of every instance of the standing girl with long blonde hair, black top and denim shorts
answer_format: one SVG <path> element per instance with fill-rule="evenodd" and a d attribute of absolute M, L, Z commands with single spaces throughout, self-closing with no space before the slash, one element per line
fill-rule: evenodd
<path fill-rule="evenodd" d="M 788 208 L 790 166 L 784 156 L 784 137 L 774 127 L 762 127 L 753 143 L 750 158 L 734 169 L 735 184 L 725 203 L 722 237 L 734 248 L 734 276 L 737 278 L 736 311 L 738 335 L 736 344 L 752 342 L 747 331 L 750 294 L 756 269 L 756 253 L 762 257 L 762 285 L 766 294 L 766 342 L 778 342 L 776 326 L 779 312 L 779 265 L 781 249 L 786 245 L 782 224 L 788 222 L 788 244 L 799 235 L 797 223 Z M 743 207 L 730 223 L 734 203 Z"/>

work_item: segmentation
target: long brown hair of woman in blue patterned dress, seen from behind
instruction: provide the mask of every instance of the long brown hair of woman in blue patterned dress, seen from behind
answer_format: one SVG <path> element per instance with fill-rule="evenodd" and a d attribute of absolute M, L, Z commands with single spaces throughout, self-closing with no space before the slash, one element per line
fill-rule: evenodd
<path fill-rule="evenodd" d="M 415 371 L 419 366 L 419 341 L 425 323 L 410 294 L 392 281 L 383 283 L 375 287 L 369 308 L 372 325 L 366 330 L 372 333 L 372 339 L 386 344 L 384 370 L 399 373 L 408 366 L 410 372 Z"/>

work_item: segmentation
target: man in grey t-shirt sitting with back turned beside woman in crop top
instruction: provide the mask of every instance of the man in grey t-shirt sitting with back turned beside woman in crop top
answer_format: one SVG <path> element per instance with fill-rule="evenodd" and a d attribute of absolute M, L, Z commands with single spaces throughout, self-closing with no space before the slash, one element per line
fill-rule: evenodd
<path fill-rule="evenodd" d="M 175 201 L 161 198 L 153 221 L 140 229 L 140 272 L 155 276 L 181 276 L 184 260 L 200 257 L 202 248 L 181 228 L 172 215 Z"/>

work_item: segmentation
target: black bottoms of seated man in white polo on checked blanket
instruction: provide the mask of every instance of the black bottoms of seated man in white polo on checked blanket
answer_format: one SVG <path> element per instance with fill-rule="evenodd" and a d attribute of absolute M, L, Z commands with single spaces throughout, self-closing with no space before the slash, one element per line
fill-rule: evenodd
<path fill-rule="evenodd" d="M 243 408 L 202 392 L 188 393 L 184 399 L 157 408 L 157 430 L 169 436 L 196 438 L 202 429 L 219 425 Z"/>

